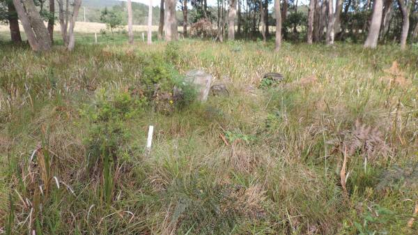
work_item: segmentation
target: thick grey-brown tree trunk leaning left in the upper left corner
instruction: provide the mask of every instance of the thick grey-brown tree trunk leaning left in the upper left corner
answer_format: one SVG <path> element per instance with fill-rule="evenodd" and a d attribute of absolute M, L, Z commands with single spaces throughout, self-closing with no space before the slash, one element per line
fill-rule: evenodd
<path fill-rule="evenodd" d="M 13 0 L 17 15 L 24 26 L 32 50 L 45 52 L 51 49 L 49 33 L 33 0 Z M 25 10 L 26 9 L 26 10 Z"/>

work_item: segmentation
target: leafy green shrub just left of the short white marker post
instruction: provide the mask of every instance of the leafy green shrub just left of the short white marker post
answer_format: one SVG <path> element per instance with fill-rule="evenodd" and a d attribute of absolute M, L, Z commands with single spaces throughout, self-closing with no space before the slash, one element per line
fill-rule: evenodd
<path fill-rule="evenodd" d="M 90 134 L 86 140 L 88 173 L 102 176 L 98 178 L 103 179 L 104 202 L 111 202 L 114 188 L 112 171 L 129 135 L 124 121 L 140 112 L 144 105 L 144 100 L 135 100 L 125 91 L 110 93 L 100 89 L 93 107 L 84 112 L 90 122 Z"/>

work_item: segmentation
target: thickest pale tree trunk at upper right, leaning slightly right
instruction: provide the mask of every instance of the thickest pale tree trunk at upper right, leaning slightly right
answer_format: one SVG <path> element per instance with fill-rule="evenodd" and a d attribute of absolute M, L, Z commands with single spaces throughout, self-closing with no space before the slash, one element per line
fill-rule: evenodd
<path fill-rule="evenodd" d="M 371 15 L 371 24 L 369 34 L 367 35 L 364 47 L 375 48 L 378 45 L 380 23 L 382 22 L 383 1 L 375 0 L 373 3 L 373 13 Z"/>

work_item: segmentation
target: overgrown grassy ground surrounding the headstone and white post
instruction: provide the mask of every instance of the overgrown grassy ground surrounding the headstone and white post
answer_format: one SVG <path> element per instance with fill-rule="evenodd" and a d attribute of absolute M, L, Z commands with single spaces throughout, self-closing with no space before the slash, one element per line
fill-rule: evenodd
<path fill-rule="evenodd" d="M 1 231 L 417 234 L 416 49 L 92 37 L 0 45 Z"/>

